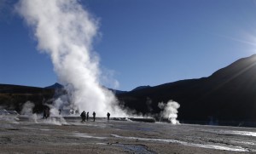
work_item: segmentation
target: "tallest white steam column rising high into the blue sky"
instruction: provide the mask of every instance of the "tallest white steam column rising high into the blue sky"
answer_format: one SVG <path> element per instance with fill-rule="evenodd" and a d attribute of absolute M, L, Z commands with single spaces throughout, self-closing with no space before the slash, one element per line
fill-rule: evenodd
<path fill-rule="evenodd" d="M 96 111 L 96 116 L 125 116 L 114 95 L 100 85 L 99 58 L 91 43 L 98 21 L 77 0 L 20 0 L 16 10 L 38 41 L 38 50 L 50 55 L 60 83 L 74 110 Z M 47 75 L 45 75 L 47 77 Z"/>

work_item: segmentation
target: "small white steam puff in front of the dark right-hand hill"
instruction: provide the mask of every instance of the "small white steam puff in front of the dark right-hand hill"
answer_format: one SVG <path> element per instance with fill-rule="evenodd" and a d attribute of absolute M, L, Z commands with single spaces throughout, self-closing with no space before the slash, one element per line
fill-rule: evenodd
<path fill-rule="evenodd" d="M 172 124 L 178 124 L 177 120 L 177 109 L 179 108 L 179 104 L 176 101 L 169 100 L 167 104 L 160 102 L 158 107 L 163 109 L 161 111 L 161 117 L 167 118 Z"/>

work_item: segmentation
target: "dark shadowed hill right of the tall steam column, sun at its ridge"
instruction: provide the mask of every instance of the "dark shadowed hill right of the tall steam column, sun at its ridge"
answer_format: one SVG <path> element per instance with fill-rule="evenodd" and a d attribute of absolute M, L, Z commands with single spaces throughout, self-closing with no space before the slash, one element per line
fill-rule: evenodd
<path fill-rule="evenodd" d="M 180 121 L 256 121 L 256 55 L 237 60 L 210 77 L 189 79 L 117 95 L 125 106 L 148 113 L 147 99 L 177 101 Z"/>

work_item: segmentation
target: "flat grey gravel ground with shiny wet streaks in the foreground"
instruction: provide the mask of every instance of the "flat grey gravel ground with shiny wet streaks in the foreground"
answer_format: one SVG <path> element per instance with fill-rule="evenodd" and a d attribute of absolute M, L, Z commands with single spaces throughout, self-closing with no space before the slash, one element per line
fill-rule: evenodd
<path fill-rule="evenodd" d="M 256 152 L 256 128 L 0 117 L 0 153 Z"/>

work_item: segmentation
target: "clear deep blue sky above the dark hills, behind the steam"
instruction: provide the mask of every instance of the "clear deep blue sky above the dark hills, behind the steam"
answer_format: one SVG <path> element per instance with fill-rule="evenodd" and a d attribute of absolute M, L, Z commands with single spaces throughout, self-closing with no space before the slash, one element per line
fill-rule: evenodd
<path fill-rule="evenodd" d="M 57 82 L 49 55 L 37 51 L 32 31 L 13 11 L 16 2 L 0 1 L 0 83 L 49 86 Z M 120 90 L 208 77 L 256 53 L 253 0 L 81 3 L 100 20 L 94 50 Z"/>

